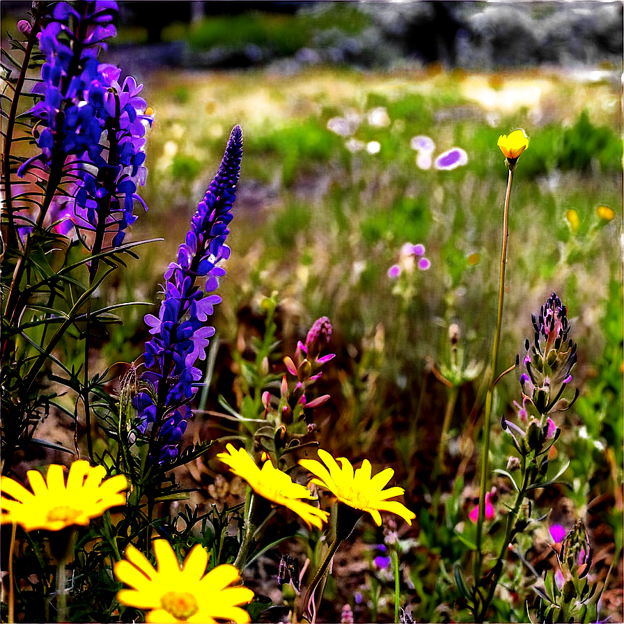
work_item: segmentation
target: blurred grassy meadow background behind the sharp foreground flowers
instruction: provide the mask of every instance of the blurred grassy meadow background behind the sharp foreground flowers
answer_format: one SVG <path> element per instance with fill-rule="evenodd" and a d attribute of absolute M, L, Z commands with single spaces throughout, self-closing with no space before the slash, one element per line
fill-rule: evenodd
<path fill-rule="evenodd" d="M 15 28 L 7 9 L 21 4 L 3 3 L 3 31 Z M 130 236 L 164 241 L 141 247 L 106 286 L 113 300 L 154 303 L 120 311 L 123 326 L 102 338 L 102 368 L 143 352 L 143 315 L 157 313 L 162 275 L 240 124 L 232 254 L 204 363 L 211 387 L 187 436 L 235 433 L 208 412 L 223 411 L 219 395 L 240 400 L 240 359 L 253 359 L 252 338 L 265 331 L 263 297 L 276 292 L 279 302 L 269 363 L 277 373 L 280 354 L 329 317 L 337 357 L 323 375 L 331 400 L 315 412 L 317 439 L 336 457 L 396 470 L 417 515 L 400 535 L 405 603 L 415 621 L 461 620 L 452 569 L 468 547 L 457 527 L 478 497 L 497 313 L 507 178 L 497 139 L 521 128 L 529 148 L 510 200 L 499 367 L 523 353 L 531 313 L 556 292 L 578 344 L 580 396 L 557 421 L 551 458 L 570 462 L 568 485 L 536 502 L 551 523 L 584 517 L 598 578 L 615 559 L 601 613 L 622 621 L 622 3 L 120 2 L 120 10 L 104 59 L 145 84 L 155 116 L 145 148 L 150 210 Z M 422 137 L 434 161 L 458 148 L 465 164 L 423 168 L 414 144 Z M 430 264 L 393 278 L 406 243 L 423 245 Z M 499 419 L 514 414 L 518 377 L 497 385 L 492 466 L 510 455 Z M 458 392 L 440 450 L 449 385 Z M 70 430 L 68 439 L 50 435 L 72 446 Z M 214 453 L 198 476 L 202 504 L 235 494 Z M 547 532 L 520 537 L 526 561 L 543 569 Z M 355 621 L 391 621 L 391 581 L 375 563 L 382 542 L 367 524 L 338 552 L 320 621 L 337 621 L 347 603 Z M 501 621 L 522 621 L 518 595 L 531 599 L 536 582 L 514 556 L 517 578 L 505 577 L 497 598 Z M 267 552 L 245 582 L 276 600 L 278 562 Z"/>

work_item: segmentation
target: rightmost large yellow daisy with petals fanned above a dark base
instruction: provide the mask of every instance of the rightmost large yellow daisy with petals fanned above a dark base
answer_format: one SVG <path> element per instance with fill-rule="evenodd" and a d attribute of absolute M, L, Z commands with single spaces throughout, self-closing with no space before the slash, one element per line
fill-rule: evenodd
<path fill-rule="evenodd" d="M 325 466 L 317 460 L 299 460 L 299 464 L 308 469 L 316 478 L 312 483 L 324 487 L 334 496 L 354 509 L 370 513 L 377 526 L 381 526 L 382 517 L 380 511 L 389 511 L 400 515 L 407 524 L 412 524 L 416 517 L 403 503 L 389 501 L 387 499 L 403 494 L 403 487 L 383 488 L 394 475 L 391 468 L 386 468 L 371 477 L 371 466 L 368 460 L 362 462 L 361 468 L 355 472 L 351 462 L 343 457 L 338 458 L 342 467 L 338 467 L 336 460 L 322 448 L 318 450 L 318 456 L 325 462 Z M 328 470 L 329 469 L 329 470 Z"/>

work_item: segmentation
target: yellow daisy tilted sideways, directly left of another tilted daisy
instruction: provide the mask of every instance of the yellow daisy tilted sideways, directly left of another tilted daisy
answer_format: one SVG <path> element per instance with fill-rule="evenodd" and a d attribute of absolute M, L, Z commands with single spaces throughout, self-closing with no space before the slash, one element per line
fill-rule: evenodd
<path fill-rule="evenodd" d="M 320 529 L 323 522 L 327 522 L 329 517 L 327 511 L 301 500 L 314 498 L 307 487 L 293 483 L 288 474 L 274 468 L 270 461 L 265 461 L 260 470 L 244 448 L 237 450 L 232 444 L 227 444 L 226 451 L 218 453 L 217 458 L 227 464 L 234 474 L 244 478 L 256 494 L 272 503 L 288 507 L 299 515 L 309 528 L 314 525 Z"/>

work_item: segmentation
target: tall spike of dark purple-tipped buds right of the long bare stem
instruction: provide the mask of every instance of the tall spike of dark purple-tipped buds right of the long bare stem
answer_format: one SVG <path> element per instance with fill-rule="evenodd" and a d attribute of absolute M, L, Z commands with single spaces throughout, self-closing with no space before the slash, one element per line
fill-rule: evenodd
<path fill-rule="evenodd" d="M 525 372 L 520 376 L 522 405 L 514 401 L 518 418 L 527 423 L 526 430 L 504 417 L 501 420 L 522 455 L 531 451 L 539 453 L 547 440 L 554 442 L 559 435 L 550 414 L 570 407 L 571 403 L 561 395 L 572 381 L 570 371 L 577 361 L 577 345 L 569 338 L 566 309 L 554 292 L 541 307 L 538 317 L 531 315 L 531 320 L 535 336 L 532 342 L 527 339 L 524 343 Z"/>

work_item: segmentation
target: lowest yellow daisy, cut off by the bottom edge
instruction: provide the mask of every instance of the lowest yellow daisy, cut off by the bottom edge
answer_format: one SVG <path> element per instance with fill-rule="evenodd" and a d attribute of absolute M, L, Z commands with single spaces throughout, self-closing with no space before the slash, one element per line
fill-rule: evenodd
<path fill-rule="evenodd" d="M 114 564 L 115 576 L 132 588 L 118 592 L 119 602 L 148 611 L 146 622 L 249 622 L 249 614 L 238 605 L 252 600 L 253 591 L 229 587 L 240 582 L 233 565 L 217 565 L 205 574 L 208 553 L 199 544 L 182 568 L 166 540 L 155 540 L 153 549 L 156 569 L 132 544 L 125 549 L 125 559 Z"/>

